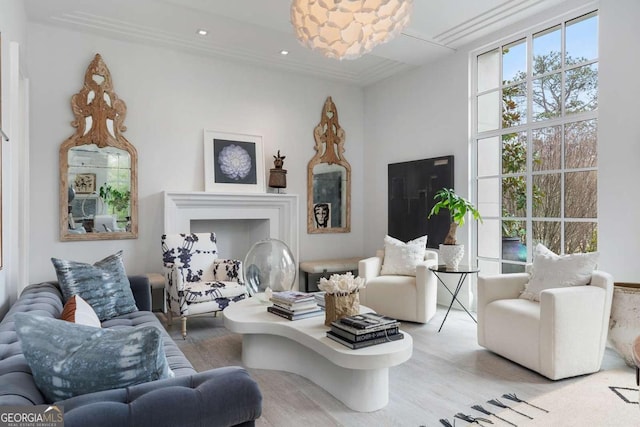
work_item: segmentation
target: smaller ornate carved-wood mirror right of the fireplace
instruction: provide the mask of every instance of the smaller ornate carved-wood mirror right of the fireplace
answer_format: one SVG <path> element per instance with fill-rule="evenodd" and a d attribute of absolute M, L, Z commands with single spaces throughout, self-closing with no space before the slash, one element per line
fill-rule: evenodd
<path fill-rule="evenodd" d="M 328 97 L 313 130 L 316 154 L 307 166 L 307 232 L 351 231 L 351 165 L 344 158 L 344 130 Z"/>

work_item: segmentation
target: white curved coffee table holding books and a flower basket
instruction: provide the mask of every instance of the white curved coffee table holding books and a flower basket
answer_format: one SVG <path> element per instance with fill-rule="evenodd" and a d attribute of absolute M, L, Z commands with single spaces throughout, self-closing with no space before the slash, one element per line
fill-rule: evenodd
<path fill-rule="evenodd" d="M 324 315 L 290 321 L 268 313 L 268 305 L 249 298 L 223 311 L 225 327 L 242 334 L 245 366 L 301 375 L 355 411 L 389 403 L 389 368 L 411 358 L 411 335 L 403 332 L 404 339 L 352 350 L 327 338 Z"/>

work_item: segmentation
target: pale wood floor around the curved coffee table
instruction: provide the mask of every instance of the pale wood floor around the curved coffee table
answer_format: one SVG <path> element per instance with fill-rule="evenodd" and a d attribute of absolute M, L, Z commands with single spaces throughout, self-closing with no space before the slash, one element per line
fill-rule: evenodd
<path fill-rule="evenodd" d="M 354 412 L 306 378 L 249 369 L 264 399 L 262 417 L 256 425 L 437 427 L 441 426 L 440 418 L 453 422 L 457 412 L 481 416 L 471 409 L 476 404 L 499 412 L 486 401 L 504 393 L 529 400 L 581 378 L 550 381 L 481 348 L 476 341 L 476 325 L 464 311 L 452 310 L 438 333 L 445 311 L 438 307 L 438 313 L 426 325 L 403 323 L 402 329 L 413 337 L 413 356 L 389 370 L 389 404 L 385 408 Z M 242 338 L 225 329 L 222 316 L 189 319 L 186 340 L 180 335 L 179 324 L 174 320 L 167 329 L 196 370 L 242 365 Z M 622 358 L 607 348 L 602 369 L 625 367 Z M 627 369 L 629 375 L 635 375 L 633 369 Z M 467 423 L 457 420 L 456 425 Z"/>

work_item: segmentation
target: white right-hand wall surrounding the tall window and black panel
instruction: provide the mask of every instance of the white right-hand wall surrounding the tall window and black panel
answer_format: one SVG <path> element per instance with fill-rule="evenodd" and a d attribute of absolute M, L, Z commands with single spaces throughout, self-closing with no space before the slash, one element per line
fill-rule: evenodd
<path fill-rule="evenodd" d="M 594 3 L 597 7 L 597 3 Z M 388 163 L 453 154 L 456 190 L 469 195 L 469 53 L 530 26 L 559 16 L 583 1 L 513 25 L 459 49 L 451 57 L 418 70 L 393 76 L 365 90 L 365 212 L 366 253 L 381 247 L 387 231 Z M 640 282 L 634 262 L 640 253 L 640 2 L 600 2 L 599 120 L 599 250 L 600 268 L 616 281 Z M 622 198 L 625 198 L 622 200 Z M 469 227 L 459 232 L 467 244 Z M 468 258 L 466 259 L 468 261 Z"/>

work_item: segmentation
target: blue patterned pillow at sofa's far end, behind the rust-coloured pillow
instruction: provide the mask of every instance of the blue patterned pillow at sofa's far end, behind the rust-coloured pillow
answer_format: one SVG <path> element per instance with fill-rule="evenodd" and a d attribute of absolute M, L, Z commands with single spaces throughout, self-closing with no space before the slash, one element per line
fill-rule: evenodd
<path fill-rule="evenodd" d="M 51 258 L 66 303 L 80 295 L 95 310 L 101 322 L 138 311 L 122 262 L 122 251 L 95 264 Z"/>

